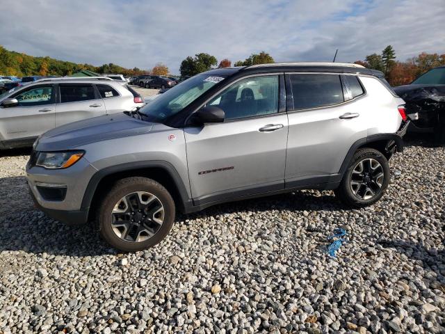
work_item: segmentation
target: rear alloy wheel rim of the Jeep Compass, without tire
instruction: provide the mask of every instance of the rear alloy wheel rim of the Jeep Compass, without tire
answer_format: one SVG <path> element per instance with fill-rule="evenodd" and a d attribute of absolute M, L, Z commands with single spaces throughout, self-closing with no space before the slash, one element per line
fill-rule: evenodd
<path fill-rule="evenodd" d="M 359 161 L 350 175 L 350 189 L 361 200 L 373 198 L 382 188 L 385 173 L 383 167 L 375 159 Z"/>

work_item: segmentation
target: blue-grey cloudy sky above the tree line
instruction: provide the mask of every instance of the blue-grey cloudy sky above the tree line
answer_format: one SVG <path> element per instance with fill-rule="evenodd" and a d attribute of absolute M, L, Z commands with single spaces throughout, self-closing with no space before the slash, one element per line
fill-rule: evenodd
<path fill-rule="evenodd" d="M 0 0 L 0 45 L 63 61 L 179 73 L 207 52 L 232 63 L 363 60 L 387 45 L 405 61 L 445 53 L 444 0 Z"/>

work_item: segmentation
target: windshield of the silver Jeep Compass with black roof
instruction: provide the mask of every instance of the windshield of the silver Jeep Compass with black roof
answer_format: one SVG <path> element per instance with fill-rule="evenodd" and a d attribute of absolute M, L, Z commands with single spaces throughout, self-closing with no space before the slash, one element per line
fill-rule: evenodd
<path fill-rule="evenodd" d="M 163 122 L 166 118 L 179 113 L 223 79 L 225 77 L 213 77 L 207 74 L 195 75 L 195 77 L 156 97 L 155 100 L 140 109 L 140 113 L 143 113 L 151 121 Z"/>

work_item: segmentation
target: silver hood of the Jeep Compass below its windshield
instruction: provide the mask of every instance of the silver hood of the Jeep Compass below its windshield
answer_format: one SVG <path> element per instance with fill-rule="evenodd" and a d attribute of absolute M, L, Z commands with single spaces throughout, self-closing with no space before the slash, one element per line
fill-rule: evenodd
<path fill-rule="evenodd" d="M 154 123 L 124 113 L 79 120 L 45 132 L 34 143 L 37 151 L 58 151 L 114 138 L 150 132 Z"/>

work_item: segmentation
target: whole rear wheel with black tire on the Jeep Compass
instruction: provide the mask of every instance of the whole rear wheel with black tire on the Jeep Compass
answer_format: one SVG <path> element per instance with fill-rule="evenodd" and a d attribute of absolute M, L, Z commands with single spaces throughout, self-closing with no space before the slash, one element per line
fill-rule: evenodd
<path fill-rule="evenodd" d="M 355 152 L 339 188 L 334 193 L 350 207 L 366 207 L 382 198 L 389 184 L 387 158 L 373 148 Z"/>

